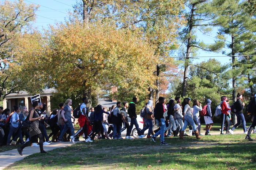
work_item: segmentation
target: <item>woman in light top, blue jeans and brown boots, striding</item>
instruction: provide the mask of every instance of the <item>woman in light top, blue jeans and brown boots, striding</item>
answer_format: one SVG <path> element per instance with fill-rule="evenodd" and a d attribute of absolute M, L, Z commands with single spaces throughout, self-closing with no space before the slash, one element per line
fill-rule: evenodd
<path fill-rule="evenodd" d="M 194 131 L 194 133 L 196 135 L 196 138 L 197 139 L 202 138 L 201 136 L 199 136 L 199 132 L 196 129 L 196 124 L 195 124 L 195 122 L 193 120 L 193 113 L 192 113 L 193 112 L 193 108 L 191 108 L 189 106 L 190 102 L 191 102 L 191 100 L 189 98 L 185 98 L 183 100 L 183 103 L 182 103 L 182 106 L 184 108 L 183 112 L 184 112 L 184 120 L 185 121 L 184 121 L 184 126 L 183 126 L 183 128 L 181 130 L 181 133 L 180 133 L 180 139 L 184 139 L 183 135 L 184 135 L 185 129 L 187 128 L 188 124 L 190 124 L 192 126 L 193 131 Z"/>

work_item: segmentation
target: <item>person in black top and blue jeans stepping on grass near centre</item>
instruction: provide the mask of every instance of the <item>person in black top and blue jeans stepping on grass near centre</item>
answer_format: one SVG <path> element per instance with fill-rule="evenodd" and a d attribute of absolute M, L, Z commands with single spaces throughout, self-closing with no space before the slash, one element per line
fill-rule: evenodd
<path fill-rule="evenodd" d="M 160 145 L 169 145 L 169 143 L 165 142 L 165 130 L 166 130 L 166 124 L 165 124 L 165 119 L 163 117 L 164 113 L 164 108 L 163 104 L 165 103 L 165 98 L 164 97 L 159 97 L 158 98 L 158 103 L 155 105 L 154 109 L 154 117 L 155 121 L 160 126 L 160 130 L 155 133 L 154 135 L 151 135 L 151 139 L 153 142 L 156 142 L 156 137 L 160 134 Z"/>

